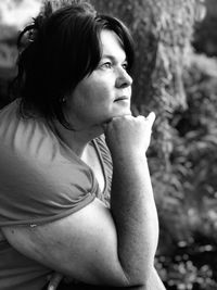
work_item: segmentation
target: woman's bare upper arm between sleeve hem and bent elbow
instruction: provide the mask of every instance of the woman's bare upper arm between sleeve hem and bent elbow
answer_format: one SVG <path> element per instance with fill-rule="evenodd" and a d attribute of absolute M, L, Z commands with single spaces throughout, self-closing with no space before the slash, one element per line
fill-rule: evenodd
<path fill-rule="evenodd" d="M 118 261 L 112 215 L 98 199 L 49 224 L 10 226 L 2 230 L 17 251 L 79 281 L 111 286 L 128 283 Z"/>

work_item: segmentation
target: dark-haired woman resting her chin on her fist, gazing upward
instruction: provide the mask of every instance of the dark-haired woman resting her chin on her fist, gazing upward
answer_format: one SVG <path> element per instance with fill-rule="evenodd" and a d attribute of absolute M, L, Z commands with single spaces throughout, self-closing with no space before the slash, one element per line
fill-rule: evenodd
<path fill-rule="evenodd" d="M 164 289 L 145 159 L 155 116 L 130 112 L 128 29 L 77 2 L 48 5 L 21 45 L 27 33 L 0 112 L 0 289 L 39 290 L 53 272 Z"/>

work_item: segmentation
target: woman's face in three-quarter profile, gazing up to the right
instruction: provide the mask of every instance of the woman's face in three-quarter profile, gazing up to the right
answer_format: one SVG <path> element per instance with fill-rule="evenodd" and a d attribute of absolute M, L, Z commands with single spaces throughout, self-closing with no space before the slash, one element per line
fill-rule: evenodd
<path fill-rule="evenodd" d="M 132 79 L 126 71 L 126 53 L 111 30 L 102 30 L 101 42 L 98 67 L 77 85 L 66 101 L 66 119 L 77 129 L 101 126 L 115 116 L 131 114 Z"/>

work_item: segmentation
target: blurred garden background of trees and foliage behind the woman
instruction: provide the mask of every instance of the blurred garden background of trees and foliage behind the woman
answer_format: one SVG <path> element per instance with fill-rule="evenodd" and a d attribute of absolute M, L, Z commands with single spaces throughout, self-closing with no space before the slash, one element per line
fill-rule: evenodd
<path fill-rule="evenodd" d="M 90 2 L 130 27 L 137 54 L 132 111 L 157 116 L 149 164 L 161 227 L 158 273 L 167 289 L 216 290 L 217 1 Z M 1 108 L 11 101 L 17 31 L 42 3 L 0 2 Z"/>

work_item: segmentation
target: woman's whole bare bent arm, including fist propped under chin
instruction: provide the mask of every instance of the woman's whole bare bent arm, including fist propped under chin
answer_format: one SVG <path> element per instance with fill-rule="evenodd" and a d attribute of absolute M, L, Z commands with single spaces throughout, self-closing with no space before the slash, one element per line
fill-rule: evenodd
<path fill-rule="evenodd" d="M 114 163 L 111 211 L 95 199 L 46 225 L 5 227 L 12 247 L 85 283 L 145 285 L 158 237 L 145 159 L 153 121 L 153 116 L 119 117 L 106 128 Z"/>

